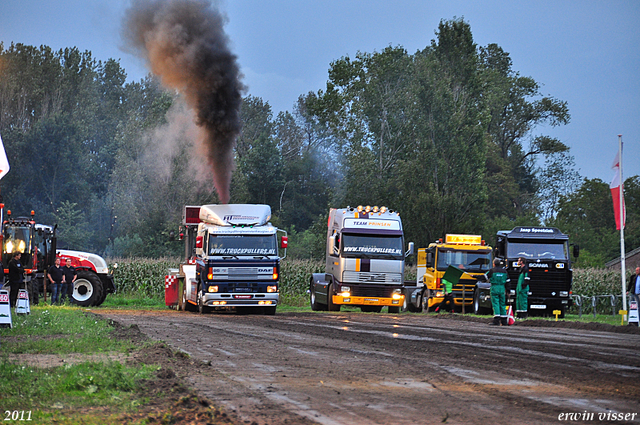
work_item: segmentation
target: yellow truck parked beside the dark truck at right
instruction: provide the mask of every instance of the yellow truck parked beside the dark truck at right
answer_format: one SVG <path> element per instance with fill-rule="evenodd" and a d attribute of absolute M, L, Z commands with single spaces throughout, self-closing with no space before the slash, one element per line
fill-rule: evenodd
<path fill-rule="evenodd" d="M 472 311 L 478 277 L 491 268 L 491 252 L 481 236 L 457 234 L 448 234 L 444 241 L 439 239 L 428 248 L 418 249 L 417 280 L 418 286 L 424 286 L 423 310 L 429 311 L 443 301 L 442 277 L 452 265 L 464 272 L 453 285 L 454 306 Z"/>

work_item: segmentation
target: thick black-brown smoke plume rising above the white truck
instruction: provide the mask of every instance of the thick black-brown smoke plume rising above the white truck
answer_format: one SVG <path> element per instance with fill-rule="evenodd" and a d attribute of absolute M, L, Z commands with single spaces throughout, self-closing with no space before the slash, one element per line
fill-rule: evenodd
<path fill-rule="evenodd" d="M 134 0 L 125 15 L 123 38 L 162 84 L 182 93 L 195 111 L 199 142 L 220 201 L 227 203 L 244 85 L 224 23 L 206 1 Z"/>

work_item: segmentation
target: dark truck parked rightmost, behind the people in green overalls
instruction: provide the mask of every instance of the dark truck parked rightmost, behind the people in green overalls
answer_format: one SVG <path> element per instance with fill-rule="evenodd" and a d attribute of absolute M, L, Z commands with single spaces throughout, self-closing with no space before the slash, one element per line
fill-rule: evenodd
<path fill-rule="evenodd" d="M 579 248 L 573 247 L 574 257 Z M 569 255 L 569 236 L 554 227 L 516 227 L 497 233 L 495 257 L 504 262 L 511 280 L 512 297 L 518 282 L 517 262 L 523 257 L 529 269 L 529 313 L 563 317 L 573 304 L 573 270 Z"/>

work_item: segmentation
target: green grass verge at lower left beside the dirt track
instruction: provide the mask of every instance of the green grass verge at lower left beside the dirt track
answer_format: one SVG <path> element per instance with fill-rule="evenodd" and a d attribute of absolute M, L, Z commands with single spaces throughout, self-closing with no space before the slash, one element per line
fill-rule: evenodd
<path fill-rule="evenodd" d="M 33 306 L 29 315 L 13 316 L 13 328 L 0 329 L 0 400 L 3 420 L 12 415 L 31 423 L 105 423 L 92 409 L 135 410 L 145 403 L 143 383 L 156 366 L 128 366 L 115 361 L 62 363 L 38 367 L 39 354 L 118 354 L 133 351 L 132 342 L 111 337 L 105 320 L 68 306 Z M 9 413 L 5 413 L 9 411 Z M 18 413 L 14 413 L 18 412 Z M 7 416 L 7 414 L 9 416 Z"/>

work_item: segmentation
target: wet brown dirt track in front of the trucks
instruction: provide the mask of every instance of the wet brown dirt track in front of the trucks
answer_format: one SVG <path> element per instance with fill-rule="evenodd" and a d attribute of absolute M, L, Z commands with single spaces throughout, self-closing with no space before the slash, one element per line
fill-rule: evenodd
<path fill-rule="evenodd" d="M 637 329 L 493 327 L 459 315 L 94 312 L 190 354 L 187 385 L 245 423 L 549 424 L 585 412 L 593 419 L 580 423 L 640 423 Z M 632 420 L 600 420 L 607 412 Z"/>

